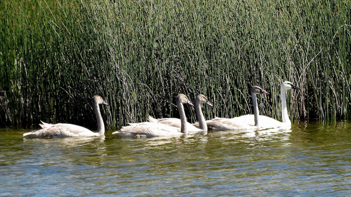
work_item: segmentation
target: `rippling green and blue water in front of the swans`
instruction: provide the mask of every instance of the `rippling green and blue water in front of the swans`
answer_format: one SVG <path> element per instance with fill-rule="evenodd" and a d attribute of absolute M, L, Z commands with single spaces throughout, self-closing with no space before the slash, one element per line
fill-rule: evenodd
<path fill-rule="evenodd" d="M 0 129 L 0 196 L 349 196 L 351 124 L 171 138 Z"/>

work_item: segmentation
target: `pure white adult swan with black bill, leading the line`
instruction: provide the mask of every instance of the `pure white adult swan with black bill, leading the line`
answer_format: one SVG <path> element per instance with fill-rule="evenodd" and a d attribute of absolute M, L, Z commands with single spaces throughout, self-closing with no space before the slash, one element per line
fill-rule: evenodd
<path fill-rule="evenodd" d="M 301 88 L 295 86 L 289 81 L 285 81 L 282 83 L 280 86 L 280 97 L 282 98 L 282 122 L 277 121 L 273 118 L 267 117 L 267 116 L 262 116 L 259 115 L 259 127 L 260 128 L 274 128 L 274 127 L 281 127 L 281 126 L 289 126 L 291 125 L 291 121 L 289 119 L 289 115 L 287 113 L 286 109 L 286 90 L 290 89 L 298 89 L 300 90 Z M 212 120 L 220 120 L 221 118 L 214 118 Z M 238 122 L 246 122 L 248 125 L 254 125 L 254 115 L 244 115 L 240 117 L 236 117 L 236 121 Z M 208 122 L 207 122 L 208 125 Z M 213 129 L 213 128 L 212 128 Z"/>

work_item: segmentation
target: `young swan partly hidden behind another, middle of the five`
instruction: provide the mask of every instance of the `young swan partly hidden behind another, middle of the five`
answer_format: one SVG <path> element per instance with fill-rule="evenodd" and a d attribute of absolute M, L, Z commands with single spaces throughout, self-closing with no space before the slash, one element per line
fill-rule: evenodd
<path fill-rule="evenodd" d="M 204 117 L 202 110 L 201 110 L 202 103 L 206 103 L 209 106 L 212 106 L 212 104 L 210 103 L 210 101 L 207 100 L 205 95 L 199 94 L 196 96 L 195 111 L 196 111 L 196 115 L 198 117 L 199 123 L 191 124 L 189 122 L 186 122 L 188 131 L 207 131 L 206 120 L 205 120 L 205 117 Z M 166 125 L 169 125 L 171 127 L 177 127 L 177 128 L 181 127 L 181 122 L 180 122 L 179 118 L 159 118 L 159 119 L 156 119 L 156 118 L 153 118 L 149 115 L 147 120 L 149 122 L 166 124 Z"/>

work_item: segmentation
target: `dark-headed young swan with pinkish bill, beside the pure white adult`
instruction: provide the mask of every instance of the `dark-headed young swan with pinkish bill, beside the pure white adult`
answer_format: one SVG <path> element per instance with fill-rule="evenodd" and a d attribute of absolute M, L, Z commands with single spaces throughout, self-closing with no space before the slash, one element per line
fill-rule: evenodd
<path fill-rule="evenodd" d="M 259 123 L 259 111 L 257 105 L 257 94 L 264 93 L 268 94 L 265 90 L 258 86 L 253 86 L 251 88 L 251 97 L 253 102 L 253 119 L 254 123 L 251 124 L 245 120 L 245 116 L 235 117 L 235 118 L 213 118 L 212 120 L 206 121 L 207 126 L 211 127 L 213 130 L 246 130 L 255 129 L 260 127 Z M 252 115 L 251 115 L 252 116 Z"/>

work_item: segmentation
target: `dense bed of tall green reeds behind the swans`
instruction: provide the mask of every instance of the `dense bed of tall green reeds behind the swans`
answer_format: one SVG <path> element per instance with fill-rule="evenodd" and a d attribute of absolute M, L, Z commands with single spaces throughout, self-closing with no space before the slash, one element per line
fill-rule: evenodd
<path fill-rule="evenodd" d="M 1 1 L 0 121 L 94 128 L 102 96 L 108 129 L 177 117 L 174 97 L 199 93 L 206 118 L 260 113 L 280 120 L 350 118 L 350 1 Z M 186 108 L 190 122 L 194 110 Z"/>

